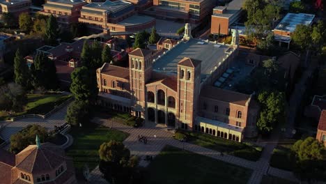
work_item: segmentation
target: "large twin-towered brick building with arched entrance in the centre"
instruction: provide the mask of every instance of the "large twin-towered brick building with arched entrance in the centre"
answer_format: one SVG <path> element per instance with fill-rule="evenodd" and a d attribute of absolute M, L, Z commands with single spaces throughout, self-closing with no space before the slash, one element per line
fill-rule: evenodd
<path fill-rule="evenodd" d="M 168 128 L 196 130 L 241 141 L 256 135 L 258 105 L 251 95 L 212 87 L 238 56 L 238 45 L 189 38 L 157 52 L 135 49 L 129 68 L 104 63 L 97 70 L 100 103 Z M 236 36 L 235 36 L 236 37 Z M 218 110 L 217 110 L 218 109 Z"/>

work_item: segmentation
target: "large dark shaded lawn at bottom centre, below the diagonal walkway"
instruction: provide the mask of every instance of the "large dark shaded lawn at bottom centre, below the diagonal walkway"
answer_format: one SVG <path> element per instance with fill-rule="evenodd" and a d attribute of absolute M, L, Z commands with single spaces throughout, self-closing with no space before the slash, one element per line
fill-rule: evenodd
<path fill-rule="evenodd" d="M 147 168 L 146 184 L 247 183 L 252 171 L 166 146 Z"/>

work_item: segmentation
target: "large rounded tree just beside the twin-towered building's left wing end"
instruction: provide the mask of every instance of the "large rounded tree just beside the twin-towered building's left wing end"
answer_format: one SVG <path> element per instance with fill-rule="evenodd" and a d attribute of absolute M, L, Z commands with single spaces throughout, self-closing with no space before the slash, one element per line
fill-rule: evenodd
<path fill-rule="evenodd" d="M 98 86 L 94 77 L 96 77 L 95 73 L 88 70 L 85 66 L 76 68 L 71 73 L 72 83 L 70 91 L 76 100 L 95 101 L 98 96 Z"/>

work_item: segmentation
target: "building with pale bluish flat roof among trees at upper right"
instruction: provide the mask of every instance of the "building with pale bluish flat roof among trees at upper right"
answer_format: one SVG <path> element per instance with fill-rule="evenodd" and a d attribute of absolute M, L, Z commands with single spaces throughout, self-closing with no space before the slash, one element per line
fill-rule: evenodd
<path fill-rule="evenodd" d="M 274 40 L 290 45 L 291 34 L 299 24 L 311 26 L 315 15 L 306 13 L 288 13 L 274 28 Z"/>

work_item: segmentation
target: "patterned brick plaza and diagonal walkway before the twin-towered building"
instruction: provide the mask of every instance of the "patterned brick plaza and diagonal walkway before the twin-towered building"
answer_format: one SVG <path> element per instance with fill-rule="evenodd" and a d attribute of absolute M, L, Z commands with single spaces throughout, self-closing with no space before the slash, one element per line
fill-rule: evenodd
<path fill-rule="evenodd" d="M 252 169 L 254 172 L 251 175 L 248 183 L 261 183 L 263 175 L 267 173 L 272 176 L 288 179 L 290 181 L 297 181 L 292 172 L 270 167 L 268 163 L 269 159 L 266 160 L 264 157 L 262 157 L 261 160 L 253 162 L 232 155 L 221 156 L 219 155 L 218 151 L 213 151 L 208 148 L 197 146 L 195 144 L 189 144 L 187 142 L 181 142 L 173 139 L 173 133 L 167 131 L 166 128 L 160 128 L 157 126 L 155 127 L 154 125 L 146 125 L 143 128 L 130 128 L 127 125 L 123 125 L 121 123 L 112 123 L 108 119 L 104 118 L 93 118 L 93 122 L 129 133 L 130 136 L 127 137 L 125 141 L 123 141 L 123 144 L 125 144 L 125 146 L 130 149 L 132 155 L 138 155 L 139 158 L 141 158 L 141 162 L 139 164 L 143 167 L 146 167 L 149 164 L 149 162 L 143 160 L 146 155 L 152 155 L 155 157 L 160 153 L 160 151 L 162 151 L 162 148 L 164 148 L 166 144 L 169 144 L 178 148 L 184 148 L 185 150 L 191 151 L 193 153 L 205 155 L 217 160 L 222 160 L 224 162 L 245 167 L 247 169 Z M 148 143 L 143 144 L 142 142 L 139 142 L 138 135 L 144 135 L 148 137 Z"/>

